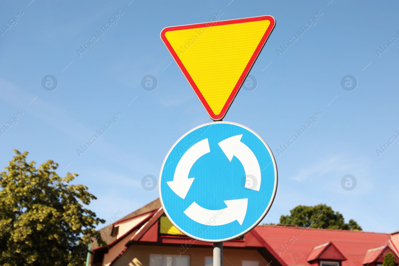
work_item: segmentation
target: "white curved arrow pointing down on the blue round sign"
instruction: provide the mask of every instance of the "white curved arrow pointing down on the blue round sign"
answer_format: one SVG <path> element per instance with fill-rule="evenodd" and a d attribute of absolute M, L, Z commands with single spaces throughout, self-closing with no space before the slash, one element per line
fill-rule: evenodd
<path fill-rule="evenodd" d="M 178 162 L 173 176 L 173 181 L 166 182 L 173 192 L 182 199 L 186 197 L 187 192 L 194 181 L 194 177 L 188 178 L 191 167 L 193 167 L 194 163 L 201 156 L 208 152 L 210 152 L 210 150 L 207 138 L 194 144 L 183 154 L 182 159 Z"/>

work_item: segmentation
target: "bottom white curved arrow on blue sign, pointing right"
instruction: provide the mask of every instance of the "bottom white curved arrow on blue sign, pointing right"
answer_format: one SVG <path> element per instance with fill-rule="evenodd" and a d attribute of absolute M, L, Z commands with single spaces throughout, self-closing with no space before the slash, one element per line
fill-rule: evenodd
<path fill-rule="evenodd" d="M 221 210 L 208 210 L 199 206 L 195 201 L 184 211 L 184 213 L 197 223 L 206 225 L 226 225 L 238 221 L 243 224 L 245 214 L 247 213 L 248 199 L 232 199 L 224 201 L 227 208 Z M 212 223 L 215 221 L 215 223 Z"/>

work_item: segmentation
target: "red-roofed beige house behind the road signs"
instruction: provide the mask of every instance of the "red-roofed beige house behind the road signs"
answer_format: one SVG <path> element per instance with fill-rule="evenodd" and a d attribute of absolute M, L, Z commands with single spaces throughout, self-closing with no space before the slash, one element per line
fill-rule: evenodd
<path fill-rule="evenodd" d="M 100 230 L 107 246 L 92 245 L 90 266 L 212 266 L 212 243 L 193 240 L 166 217 L 159 199 Z M 231 266 L 381 266 L 392 252 L 399 264 L 399 232 L 392 234 L 261 225 L 223 243 Z"/>

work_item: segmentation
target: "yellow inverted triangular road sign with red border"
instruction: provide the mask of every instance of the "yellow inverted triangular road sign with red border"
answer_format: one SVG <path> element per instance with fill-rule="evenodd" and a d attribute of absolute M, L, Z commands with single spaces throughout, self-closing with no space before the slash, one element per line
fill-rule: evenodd
<path fill-rule="evenodd" d="M 161 39 L 209 116 L 222 120 L 275 24 L 260 16 L 175 26 Z"/>

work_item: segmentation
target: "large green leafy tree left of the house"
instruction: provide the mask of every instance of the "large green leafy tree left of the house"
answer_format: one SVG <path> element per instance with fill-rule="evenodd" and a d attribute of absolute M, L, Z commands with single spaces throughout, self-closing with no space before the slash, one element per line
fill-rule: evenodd
<path fill-rule="evenodd" d="M 52 160 L 36 168 L 14 152 L 0 173 L 0 265 L 84 265 L 87 244 L 104 244 L 95 225 L 105 221 L 83 207 L 96 197 L 69 184 L 77 174 L 59 177 Z"/>

